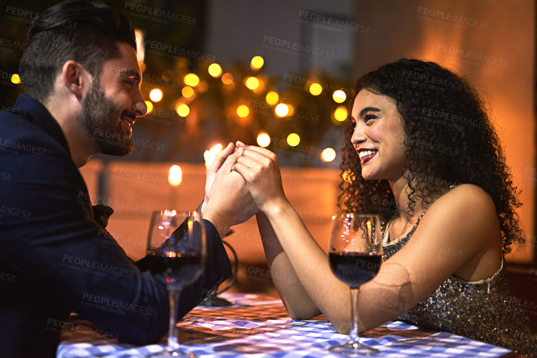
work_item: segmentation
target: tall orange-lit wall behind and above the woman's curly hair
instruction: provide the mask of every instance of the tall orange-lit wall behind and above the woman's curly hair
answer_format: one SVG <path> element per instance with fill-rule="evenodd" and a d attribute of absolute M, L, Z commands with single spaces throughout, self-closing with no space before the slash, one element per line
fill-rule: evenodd
<path fill-rule="evenodd" d="M 468 24 L 452 26 L 456 23 L 448 19 L 455 15 L 466 18 L 463 21 Z M 518 213 L 527 236 L 526 250 L 508 259 L 531 261 L 537 236 L 535 1 L 361 0 L 355 19 L 371 31 L 356 36 L 354 77 L 402 57 L 434 61 L 467 75 L 490 102 L 507 164 L 515 184 L 522 189 L 520 201 L 524 203 Z M 470 26 L 472 20 L 477 20 L 477 26 Z M 445 48 L 448 53 L 443 52 Z M 450 48 L 452 52 L 460 49 L 487 56 L 492 63 L 463 62 L 460 55 L 449 54 Z"/>

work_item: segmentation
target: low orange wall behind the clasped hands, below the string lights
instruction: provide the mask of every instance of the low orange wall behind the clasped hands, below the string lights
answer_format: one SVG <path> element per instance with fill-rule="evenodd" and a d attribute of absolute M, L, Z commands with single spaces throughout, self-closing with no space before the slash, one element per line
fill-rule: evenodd
<path fill-rule="evenodd" d="M 204 198 L 205 165 L 179 163 L 183 182 L 175 188 L 168 185 L 172 164 L 176 163 L 109 162 L 103 165 L 90 160 L 81 168 L 92 203 L 109 204 L 114 209 L 107 230 L 133 260 L 146 254 L 152 211 L 194 210 Z M 104 185 L 97 194 L 100 170 Z M 281 174 L 287 198 L 326 251 L 339 195 L 339 170 L 283 168 Z M 237 251 L 241 264 L 266 262 L 255 218 L 236 225 L 233 230 L 234 234 L 226 240 Z"/>

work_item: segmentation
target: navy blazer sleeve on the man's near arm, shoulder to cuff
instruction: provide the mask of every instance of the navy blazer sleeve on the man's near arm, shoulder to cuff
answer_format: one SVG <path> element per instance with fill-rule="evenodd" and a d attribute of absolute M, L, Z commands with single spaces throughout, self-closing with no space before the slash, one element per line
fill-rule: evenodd
<path fill-rule="evenodd" d="M 36 295 L 47 295 L 120 340 L 159 340 L 168 331 L 166 287 L 93 220 L 84 181 L 63 148 L 27 140 L 47 151 L 2 156 L 11 180 L 1 183 L 0 207 L 13 215 L 0 215 L 0 260 Z M 180 317 L 231 275 L 216 229 L 206 221 L 206 230 L 205 271 L 183 289 Z"/>

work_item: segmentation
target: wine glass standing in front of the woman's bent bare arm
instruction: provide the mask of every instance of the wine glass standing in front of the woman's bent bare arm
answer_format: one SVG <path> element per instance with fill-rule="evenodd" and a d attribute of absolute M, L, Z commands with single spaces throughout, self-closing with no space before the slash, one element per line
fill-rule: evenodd
<path fill-rule="evenodd" d="M 378 215 L 346 213 L 332 217 L 328 247 L 332 273 L 351 290 L 349 342 L 330 352 L 350 357 L 379 353 L 360 344 L 358 337 L 358 289 L 379 272 L 382 258 L 381 223 Z"/>

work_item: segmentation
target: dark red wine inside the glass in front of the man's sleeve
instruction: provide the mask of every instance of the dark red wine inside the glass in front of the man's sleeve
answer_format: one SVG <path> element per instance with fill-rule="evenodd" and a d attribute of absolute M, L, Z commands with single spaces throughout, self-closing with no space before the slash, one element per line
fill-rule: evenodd
<path fill-rule="evenodd" d="M 200 256 L 168 257 L 162 250 L 150 250 L 147 259 L 151 272 L 164 274 L 161 277 L 172 287 L 192 283 L 203 271 Z"/>

